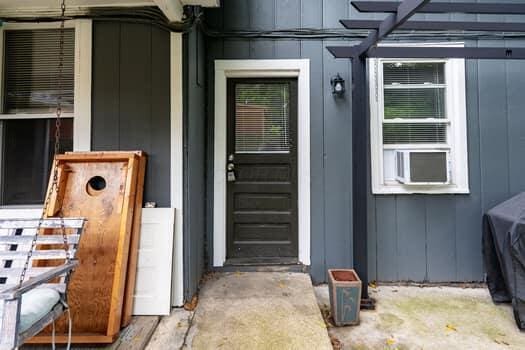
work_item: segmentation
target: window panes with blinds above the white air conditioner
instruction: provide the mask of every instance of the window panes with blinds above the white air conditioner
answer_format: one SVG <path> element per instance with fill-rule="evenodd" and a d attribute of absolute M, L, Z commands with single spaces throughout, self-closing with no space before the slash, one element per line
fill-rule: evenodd
<path fill-rule="evenodd" d="M 446 144 L 445 63 L 383 63 L 384 144 Z"/>

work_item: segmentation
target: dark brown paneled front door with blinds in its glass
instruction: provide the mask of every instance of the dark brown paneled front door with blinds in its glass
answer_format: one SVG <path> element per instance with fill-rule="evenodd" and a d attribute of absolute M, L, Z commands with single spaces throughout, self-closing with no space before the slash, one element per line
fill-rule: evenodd
<path fill-rule="evenodd" d="M 297 80 L 228 80 L 230 261 L 297 258 Z"/>

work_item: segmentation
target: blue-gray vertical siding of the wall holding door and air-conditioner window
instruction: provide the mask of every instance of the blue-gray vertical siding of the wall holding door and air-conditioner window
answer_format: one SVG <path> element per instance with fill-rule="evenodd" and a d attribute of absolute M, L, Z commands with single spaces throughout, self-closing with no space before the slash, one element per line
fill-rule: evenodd
<path fill-rule="evenodd" d="M 299 27 L 340 29 L 340 19 L 382 17 L 358 14 L 348 0 L 224 0 L 221 8 L 206 10 L 208 25 L 225 31 Z M 510 17 L 505 19 L 511 20 Z M 493 18 L 453 14 L 417 15 L 417 19 L 475 21 Z M 332 58 L 325 47 L 333 44 L 340 45 L 341 41 L 207 40 L 210 92 L 213 92 L 213 62 L 216 59 L 310 59 L 311 274 L 314 282 L 326 281 L 327 268 L 353 265 L 351 92 L 348 90 L 344 99 L 334 99 L 329 85 L 330 77 L 340 73 L 350 87 L 351 66 L 349 60 Z M 350 42 L 345 44 L 350 45 Z M 478 45 L 475 42 L 466 44 Z M 483 42 L 486 46 L 505 44 L 525 45 L 501 40 Z M 370 194 L 370 280 L 463 282 L 483 279 L 482 214 L 513 194 L 525 191 L 524 71 L 525 62 L 522 61 L 467 61 L 471 193 Z M 213 102 L 213 93 L 209 93 L 208 120 L 211 124 Z M 209 130 L 210 145 L 212 137 L 213 132 Z M 208 159 L 213 159 L 210 147 Z M 210 162 L 207 169 L 212 173 Z M 212 198 L 213 179 L 209 177 L 207 193 Z M 211 204 L 208 204 L 208 211 L 212 213 Z M 208 214 L 209 220 L 212 217 Z M 212 239 L 211 227 L 208 227 L 208 240 Z M 209 250 L 209 254 L 212 253 Z"/>

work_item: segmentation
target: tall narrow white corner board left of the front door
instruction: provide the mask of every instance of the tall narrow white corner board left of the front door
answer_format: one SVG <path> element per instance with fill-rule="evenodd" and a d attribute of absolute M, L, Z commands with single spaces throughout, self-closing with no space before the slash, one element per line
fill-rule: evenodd
<path fill-rule="evenodd" d="M 170 34 L 170 108 L 171 108 L 171 207 L 175 208 L 175 237 L 173 240 L 172 305 L 184 304 L 183 252 L 183 58 L 182 34 Z"/>

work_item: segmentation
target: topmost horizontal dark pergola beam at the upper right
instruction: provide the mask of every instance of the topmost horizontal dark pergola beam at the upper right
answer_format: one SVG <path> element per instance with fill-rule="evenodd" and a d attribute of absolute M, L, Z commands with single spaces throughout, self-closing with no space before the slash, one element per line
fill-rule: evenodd
<path fill-rule="evenodd" d="M 359 12 L 396 12 L 399 2 L 392 1 L 352 1 Z M 446 2 L 430 3 L 422 7 L 419 13 L 470 13 L 470 14 L 500 14 L 523 15 L 525 4 L 510 3 L 472 3 Z"/>

